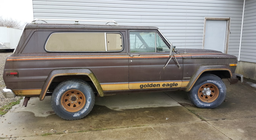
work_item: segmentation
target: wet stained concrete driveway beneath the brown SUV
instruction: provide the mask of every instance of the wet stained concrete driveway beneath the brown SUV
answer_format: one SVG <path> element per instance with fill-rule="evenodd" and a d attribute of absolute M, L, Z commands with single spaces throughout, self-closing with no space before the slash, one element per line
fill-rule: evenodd
<path fill-rule="evenodd" d="M 44 101 L 31 98 L 0 117 L 7 139 L 255 139 L 255 81 L 227 86 L 225 101 L 215 109 L 192 105 L 184 91 L 97 97 L 92 112 L 66 121 Z"/>

